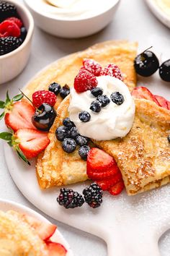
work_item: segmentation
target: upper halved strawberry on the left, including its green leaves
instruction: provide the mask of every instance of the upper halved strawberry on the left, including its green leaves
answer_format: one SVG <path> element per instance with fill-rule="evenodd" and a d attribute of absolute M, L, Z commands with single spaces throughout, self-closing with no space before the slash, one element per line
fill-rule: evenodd
<path fill-rule="evenodd" d="M 31 121 L 35 113 L 35 108 L 22 98 L 23 95 L 19 94 L 14 96 L 11 100 L 7 92 L 6 101 L 0 101 L 0 108 L 4 108 L 0 119 L 4 116 L 6 126 L 11 128 L 14 132 L 22 128 L 35 129 Z M 20 101 L 21 99 L 22 101 Z"/>

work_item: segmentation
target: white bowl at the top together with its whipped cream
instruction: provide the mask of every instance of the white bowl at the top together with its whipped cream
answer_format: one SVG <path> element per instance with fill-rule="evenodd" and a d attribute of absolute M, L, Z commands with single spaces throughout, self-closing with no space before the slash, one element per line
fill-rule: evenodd
<path fill-rule="evenodd" d="M 62 38 L 81 38 L 106 27 L 120 0 L 24 0 L 35 24 Z"/>

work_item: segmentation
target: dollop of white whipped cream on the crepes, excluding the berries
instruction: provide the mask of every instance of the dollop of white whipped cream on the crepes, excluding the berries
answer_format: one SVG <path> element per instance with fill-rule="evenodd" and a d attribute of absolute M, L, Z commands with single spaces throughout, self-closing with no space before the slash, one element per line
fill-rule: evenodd
<path fill-rule="evenodd" d="M 112 140 L 117 137 L 125 137 L 133 126 L 135 116 L 135 103 L 128 87 L 121 80 L 110 77 L 97 77 L 98 88 L 103 89 L 103 95 L 110 95 L 119 92 L 124 97 L 121 105 L 110 103 L 103 107 L 99 113 L 90 110 L 92 101 L 95 98 L 90 90 L 84 93 L 77 93 L 74 88 L 71 89 L 71 101 L 68 112 L 71 120 L 76 125 L 79 133 L 94 140 Z M 91 119 L 83 122 L 79 119 L 81 111 L 88 111 Z"/>

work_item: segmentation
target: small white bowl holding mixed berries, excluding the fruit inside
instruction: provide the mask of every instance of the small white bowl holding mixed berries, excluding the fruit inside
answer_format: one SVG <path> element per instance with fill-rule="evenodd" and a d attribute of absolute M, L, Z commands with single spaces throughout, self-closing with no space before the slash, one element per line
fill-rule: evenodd
<path fill-rule="evenodd" d="M 26 66 L 30 56 L 32 33 L 34 30 L 34 20 L 27 8 L 16 0 L 6 1 L 17 7 L 17 12 L 27 29 L 27 36 L 22 45 L 17 49 L 11 51 L 9 54 L 0 56 L 0 85 L 17 77 Z"/>

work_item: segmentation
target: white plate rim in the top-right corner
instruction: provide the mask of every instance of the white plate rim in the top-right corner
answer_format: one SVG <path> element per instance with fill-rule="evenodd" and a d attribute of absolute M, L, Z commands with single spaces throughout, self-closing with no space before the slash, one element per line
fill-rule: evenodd
<path fill-rule="evenodd" d="M 156 4 L 155 0 L 146 0 L 146 4 L 148 4 L 149 9 L 151 12 L 160 20 L 164 25 L 170 27 L 170 16 L 164 12 L 161 7 Z"/>

